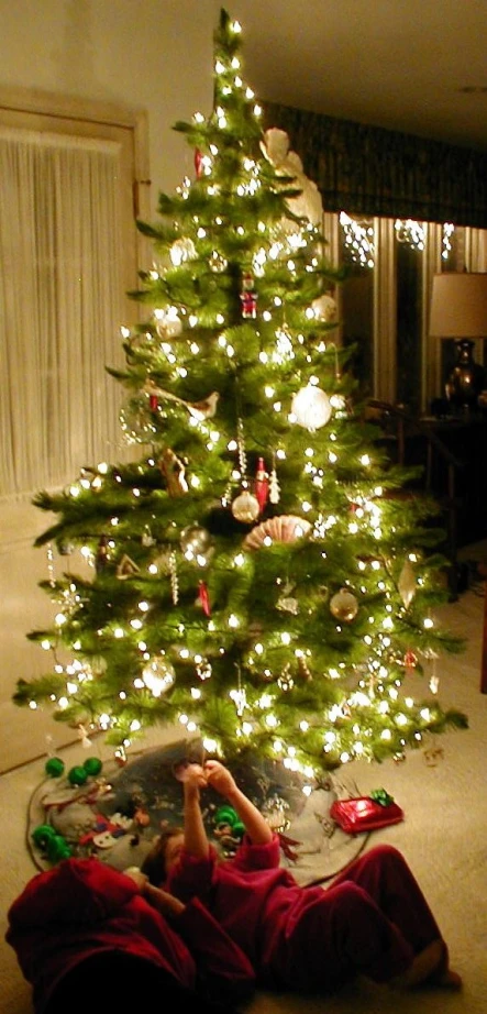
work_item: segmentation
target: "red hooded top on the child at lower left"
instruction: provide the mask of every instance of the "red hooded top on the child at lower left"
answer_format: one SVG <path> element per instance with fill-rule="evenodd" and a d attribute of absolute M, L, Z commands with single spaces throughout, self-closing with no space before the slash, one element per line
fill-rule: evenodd
<path fill-rule="evenodd" d="M 190 902 L 170 924 L 124 873 L 99 859 L 66 859 L 37 873 L 8 913 L 5 940 L 42 1014 L 63 976 L 103 949 L 152 961 L 186 989 L 248 996 L 254 971 L 209 912 Z"/>

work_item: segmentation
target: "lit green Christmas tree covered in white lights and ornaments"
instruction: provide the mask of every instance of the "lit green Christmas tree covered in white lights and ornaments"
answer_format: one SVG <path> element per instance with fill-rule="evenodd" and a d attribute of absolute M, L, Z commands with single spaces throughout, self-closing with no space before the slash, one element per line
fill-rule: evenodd
<path fill-rule="evenodd" d="M 212 112 L 175 125 L 195 177 L 137 223 L 154 265 L 109 371 L 136 460 L 35 497 L 57 516 L 36 544 L 92 567 L 42 583 L 56 615 L 29 637 L 53 666 L 14 699 L 122 754 L 174 725 L 226 762 L 312 775 L 465 727 L 434 693 L 461 644 L 433 615 L 439 508 L 364 419 L 330 315 L 342 276 L 273 164 L 240 51 L 222 11 Z"/>

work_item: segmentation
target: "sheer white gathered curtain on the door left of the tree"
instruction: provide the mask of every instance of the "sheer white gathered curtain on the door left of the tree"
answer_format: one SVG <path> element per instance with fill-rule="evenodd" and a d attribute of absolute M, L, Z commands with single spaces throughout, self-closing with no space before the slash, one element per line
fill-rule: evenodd
<path fill-rule="evenodd" d="M 119 144 L 0 129 L 0 499 L 117 460 Z"/>

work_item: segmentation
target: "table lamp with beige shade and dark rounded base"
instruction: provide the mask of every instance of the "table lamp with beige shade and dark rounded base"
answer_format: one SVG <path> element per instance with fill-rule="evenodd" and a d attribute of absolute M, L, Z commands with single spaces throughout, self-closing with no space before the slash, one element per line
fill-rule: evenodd
<path fill-rule="evenodd" d="M 445 384 L 454 411 L 478 408 L 486 371 L 474 360 L 474 339 L 487 338 L 487 272 L 443 272 L 433 276 L 430 334 L 454 338 L 456 362 Z"/>

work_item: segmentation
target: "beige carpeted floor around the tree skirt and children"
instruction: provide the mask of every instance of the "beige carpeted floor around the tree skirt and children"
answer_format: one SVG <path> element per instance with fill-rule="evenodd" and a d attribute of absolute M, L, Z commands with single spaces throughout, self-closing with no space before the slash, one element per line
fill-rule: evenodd
<path fill-rule="evenodd" d="M 482 589 L 480 589 L 482 591 Z M 385 786 L 402 806 L 406 819 L 376 831 L 367 847 L 389 841 L 402 850 L 414 870 L 449 941 L 452 962 L 464 976 L 460 995 L 414 993 L 390 995 L 359 982 L 326 1002 L 292 994 L 258 993 L 250 1014 L 486 1014 L 487 1012 L 487 695 L 479 693 L 484 600 L 475 591 L 445 607 L 449 626 L 468 638 L 464 654 L 441 666 L 440 695 L 469 716 L 467 731 L 449 732 L 436 741 L 436 762 L 424 750 L 406 762 L 356 764 L 351 774 L 361 791 Z M 9 736 L 9 730 L 4 730 Z M 97 746 L 98 749 L 98 746 Z M 101 748 L 101 756 L 103 754 Z M 67 763 L 86 757 L 76 743 L 63 751 Z M 351 765 L 352 767 L 352 765 Z M 44 778 L 44 757 L 0 778 L 3 817 L 0 934 L 5 912 L 35 868 L 26 848 L 26 813 L 32 793 Z M 319 946 L 319 941 L 316 941 Z M 86 998 L 89 1011 L 89 996 Z M 0 945 L 1 1014 L 27 1014 L 30 991 L 11 948 Z"/>

